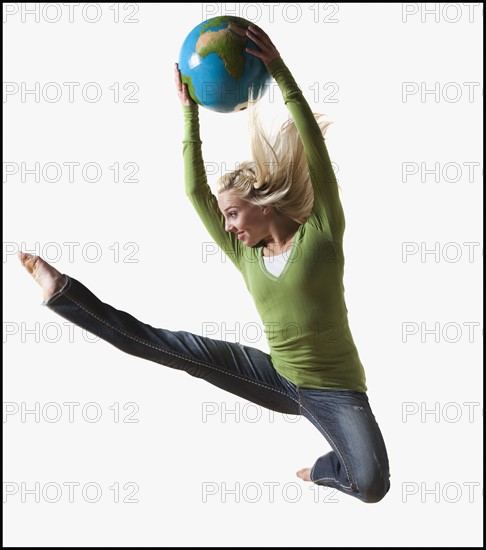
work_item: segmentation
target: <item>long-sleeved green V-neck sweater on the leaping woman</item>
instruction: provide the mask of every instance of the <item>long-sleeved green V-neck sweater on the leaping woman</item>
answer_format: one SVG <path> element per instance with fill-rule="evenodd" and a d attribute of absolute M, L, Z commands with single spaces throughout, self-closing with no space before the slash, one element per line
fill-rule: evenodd
<path fill-rule="evenodd" d="M 309 167 L 314 204 L 281 275 L 268 272 L 263 247 L 225 230 L 206 179 L 197 106 L 184 107 L 186 194 L 214 241 L 242 274 L 263 322 L 275 369 L 301 388 L 366 391 L 344 299 L 344 214 L 334 170 L 314 115 L 282 59 L 270 63 Z"/>

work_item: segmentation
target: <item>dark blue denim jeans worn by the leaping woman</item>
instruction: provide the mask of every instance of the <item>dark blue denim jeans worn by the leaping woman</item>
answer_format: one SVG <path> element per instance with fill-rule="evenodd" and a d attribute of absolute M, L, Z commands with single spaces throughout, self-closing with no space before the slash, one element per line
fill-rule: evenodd
<path fill-rule="evenodd" d="M 388 492 L 387 452 L 366 393 L 297 387 L 256 348 L 154 328 L 65 277 L 64 287 L 43 305 L 125 353 L 185 371 L 267 409 L 303 415 L 332 448 L 312 467 L 317 485 L 364 502 L 378 502 Z"/>

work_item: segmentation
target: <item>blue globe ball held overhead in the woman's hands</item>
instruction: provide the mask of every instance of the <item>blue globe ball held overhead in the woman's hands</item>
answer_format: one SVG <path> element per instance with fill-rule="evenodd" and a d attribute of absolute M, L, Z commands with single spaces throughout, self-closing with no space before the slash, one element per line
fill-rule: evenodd
<path fill-rule="evenodd" d="M 191 98 L 212 111 L 246 109 L 249 94 L 265 94 L 271 80 L 264 63 L 245 48 L 258 50 L 246 36 L 250 21 L 221 16 L 203 21 L 187 35 L 179 55 L 182 82 Z"/>

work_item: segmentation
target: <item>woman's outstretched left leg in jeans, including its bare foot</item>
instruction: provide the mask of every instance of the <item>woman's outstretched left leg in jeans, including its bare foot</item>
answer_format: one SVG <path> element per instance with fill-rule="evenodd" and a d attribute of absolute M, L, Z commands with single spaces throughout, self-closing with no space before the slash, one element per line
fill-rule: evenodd
<path fill-rule="evenodd" d="M 56 292 L 48 293 L 44 305 L 125 353 L 185 371 L 268 409 L 299 414 L 295 386 L 274 369 L 268 354 L 239 343 L 154 328 L 103 303 L 76 279 L 59 278 L 59 272 L 40 258 L 24 260 L 24 265 L 32 262 L 29 272 L 45 297 L 49 277 L 57 282 Z"/>

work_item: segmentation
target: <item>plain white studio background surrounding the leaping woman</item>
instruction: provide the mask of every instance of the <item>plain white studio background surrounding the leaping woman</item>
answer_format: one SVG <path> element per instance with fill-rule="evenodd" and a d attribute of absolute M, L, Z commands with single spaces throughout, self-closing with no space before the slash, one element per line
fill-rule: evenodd
<path fill-rule="evenodd" d="M 479 4 L 281 3 L 273 14 L 265 4 L 120 4 L 119 22 L 112 4 L 72 7 L 73 22 L 67 4 L 29 4 L 38 22 L 23 21 L 22 6 L 4 4 L 4 161 L 19 170 L 6 177 L 4 165 L 5 545 L 481 544 Z M 268 31 L 312 108 L 334 121 L 346 300 L 392 472 L 378 504 L 295 477 L 329 450 L 304 419 L 89 341 L 40 307 L 14 254 L 42 253 L 154 326 L 210 335 L 213 323 L 215 338 L 268 350 L 239 273 L 219 254 L 203 257 L 211 239 L 184 194 L 172 77 L 189 31 L 235 7 Z M 79 83 L 72 102 L 65 82 Z M 83 98 L 90 82 L 98 101 Z M 37 100 L 22 97 L 36 83 Z M 58 100 L 47 83 L 62 90 Z M 138 102 L 123 101 L 135 89 L 126 83 Z M 277 93 L 270 100 L 267 112 L 281 108 Z M 248 158 L 246 122 L 201 109 L 211 185 L 222 163 Z M 40 181 L 22 181 L 22 166 L 36 162 Z M 47 163 L 66 162 L 97 163 L 102 177 L 88 181 L 78 166 L 72 182 L 67 167 L 58 182 L 43 178 Z M 139 181 L 114 182 L 116 162 L 122 177 L 136 163 Z M 403 177 L 404 163 L 417 173 Z M 421 163 L 438 165 L 438 181 Z M 79 243 L 72 255 L 68 242 Z M 403 256 L 404 246 L 416 253 Z M 79 404 L 72 422 L 67 402 Z M 37 418 L 22 417 L 36 403 Z M 132 411 L 138 422 L 124 422 Z M 68 482 L 79 484 L 73 502 Z M 36 484 L 39 502 L 25 492 Z M 90 502 L 94 487 L 101 496 Z M 123 502 L 131 494 L 138 502 Z"/>

